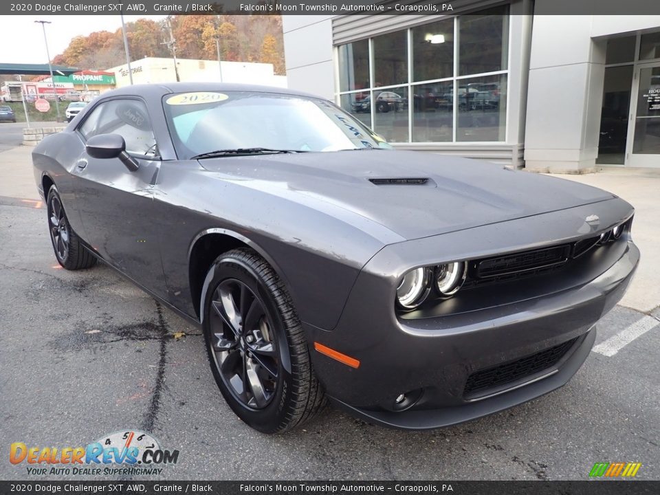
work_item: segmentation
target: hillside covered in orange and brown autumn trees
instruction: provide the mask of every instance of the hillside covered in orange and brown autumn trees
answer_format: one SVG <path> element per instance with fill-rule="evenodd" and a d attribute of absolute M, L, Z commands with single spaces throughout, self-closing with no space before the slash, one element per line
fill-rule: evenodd
<path fill-rule="evenodd" d="M 219 40 L 223 61 L 264 62 L 275 74 L 285 74 L 282 19 L 277 15 L 180 15 L 166 20 L 138 19 L 126 23 L 131 60 L 170 57 L 171 34 L 179 58 L 217 60 Z M 126 63 L 121 28 L 76 36 L 53 63 L 80 69 L 107 69 Z"/>

